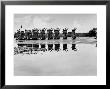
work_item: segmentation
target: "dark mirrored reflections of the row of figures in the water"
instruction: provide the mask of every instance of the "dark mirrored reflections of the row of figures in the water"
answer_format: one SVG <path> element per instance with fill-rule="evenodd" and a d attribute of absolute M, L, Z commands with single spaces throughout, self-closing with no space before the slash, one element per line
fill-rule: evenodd
<path fill-rule="evenodd" d="M 14 48 L 15 54 L 17 53 L 25 53 L 25 52 L 30 52 L 32 53 L 33 51 L 59 51 L 60 49 L 60 44 L 47 44 L 48 49 L 46 48 L 46 44 L 18 44 L 18 47 Z M 72 50 L 77 51 L 76 49 L 76 44 L 72 44 L 71 46 Z M 68 51 L 67 44 L 63 44 L 63 50 Z"/>

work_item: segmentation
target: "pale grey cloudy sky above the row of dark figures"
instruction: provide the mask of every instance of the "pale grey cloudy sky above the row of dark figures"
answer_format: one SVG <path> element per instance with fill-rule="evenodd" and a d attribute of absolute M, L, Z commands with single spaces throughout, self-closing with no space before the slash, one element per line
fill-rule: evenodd
<path fill-rule="evenodd" d="M 96 14 L 15 14 L 14 15 L 14 32 L 20 29 L 33 28 L 69 28 L 71 31 L 74 27 L 76 32 L 88 32 L 93 27 L 97 27 Z M 60 31 L 62 32 L 62 30 Z"/>

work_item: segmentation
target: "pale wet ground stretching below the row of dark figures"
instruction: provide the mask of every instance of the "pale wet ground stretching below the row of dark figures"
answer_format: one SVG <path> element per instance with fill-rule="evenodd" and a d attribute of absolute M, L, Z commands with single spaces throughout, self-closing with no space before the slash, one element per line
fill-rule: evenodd
<path fill-rule="evenodd" d="M 15 42 L 15 47 L 24 43 L 39 44 L 39 50 L 14 55 L 15 76 L 97 75 L 97 41 L 94 38 Z"/>

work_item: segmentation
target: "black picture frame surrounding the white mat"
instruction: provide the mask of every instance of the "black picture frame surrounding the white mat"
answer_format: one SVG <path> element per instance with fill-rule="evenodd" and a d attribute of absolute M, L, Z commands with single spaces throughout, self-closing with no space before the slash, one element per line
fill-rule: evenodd
<path fill-rule="evenodd" d="M 5 6 L 6 5 L 106 5 L 106 85 L 98 85 L 107 88 L 110 85 L 110 1 L 2 1 L 1 2 L 1 87 L 2 88 L 93 88 L 94 85 L 5 85 Z M 97 86 L 97 85 L 95 85 Z"/>

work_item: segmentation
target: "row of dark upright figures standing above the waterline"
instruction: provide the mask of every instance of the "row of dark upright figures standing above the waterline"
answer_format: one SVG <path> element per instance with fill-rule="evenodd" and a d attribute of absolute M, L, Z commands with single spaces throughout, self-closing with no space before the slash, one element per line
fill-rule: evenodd
<path fill-rule="evenodd" d="M 25 30 L 25 31 L 20 31 L 17 30 L 14 34 L 14 38 L 16 40 L 45 40 L 46 38 L 48 40 L 51 39 L 60 39 L 60 37 L 63 37 L 63 39 L 67 39 L 68 36 L 72 37 L 72 39 L 76 38 L 75 30 L 76 28 L 72 29 L 72 32 L 67 32 L 68 28 L 64 28 L 63 32 L 60 33 L 60 28 L 43 28 L 41 30 L 35 28 L 31 30 Z"/>

